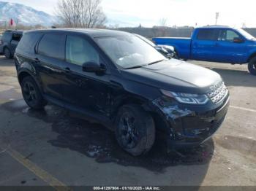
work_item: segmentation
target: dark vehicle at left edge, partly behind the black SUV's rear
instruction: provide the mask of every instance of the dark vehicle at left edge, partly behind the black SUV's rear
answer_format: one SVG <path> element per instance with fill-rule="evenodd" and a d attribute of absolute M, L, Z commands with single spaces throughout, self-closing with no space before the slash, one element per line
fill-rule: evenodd
<path fill-rule="evenodd" d="M 4 34 L 1 36 L 0 40 L 0 52 L 4 53 L 6 58 L 12 58 L 15 52 L 15 49 L 20 42 L 23 31 L 4 31 Z"/>

